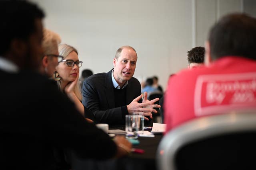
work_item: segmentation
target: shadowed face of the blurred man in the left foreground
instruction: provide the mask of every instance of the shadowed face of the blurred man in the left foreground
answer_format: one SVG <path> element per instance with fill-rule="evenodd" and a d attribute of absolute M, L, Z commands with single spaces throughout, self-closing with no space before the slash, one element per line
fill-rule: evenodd
<path fill-rule="evenodd" d="M 43 26 L 42 20 L 36 19 L 35 20 L 35 27 L 36 30 L 32 33 L 28 39 L 28 54 L 27 54 L 27 61 L 28 67 L 32 70 L 38 70 L 42 55 L 43 55 L 43 48 L 42 48 L 42 39 L 43 39 Z"/>

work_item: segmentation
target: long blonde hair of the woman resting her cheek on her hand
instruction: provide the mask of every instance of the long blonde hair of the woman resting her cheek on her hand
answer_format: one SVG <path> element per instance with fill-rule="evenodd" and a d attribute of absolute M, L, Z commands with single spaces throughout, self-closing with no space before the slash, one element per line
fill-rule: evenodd
<path fill-rule="evenodd" d="M 59 50 L 59 55 L 61 55 L 62 57 L 64 57 L 64 59 L 72 52 L 74 51 L 77 55 L 78 55 L 78 51 L 67 44 L 60 44 L 58 45 L 58 50 Z M 79 69 L 79 68 L 78 68 Z M 60 80 L 57 81 L 58 87 L 60 88 Z M 76 97 L 82 101 L 82 92 L 81 92 L 81 87 L 80 87 L 80 83 L 79 80 L 76 83 L 76 86 L 74 88 L 74 93 L 76 94 Z"/>

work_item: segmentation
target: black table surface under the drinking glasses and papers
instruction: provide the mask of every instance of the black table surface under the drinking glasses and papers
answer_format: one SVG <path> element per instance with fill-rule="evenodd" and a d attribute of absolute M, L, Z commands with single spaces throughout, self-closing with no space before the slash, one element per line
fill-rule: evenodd
<path fill-rule="evenodd" d="M 110 128 L 114 129 L 114 128 Z M 115 129 L 124 130 L 124 127 Z M 156 150 L 163 134 L 155 137 L 139 137 L 139 145 L 134 148 L 143 149 L 143 154 L 130 153 L 123 158 L 111 160 L 83 160 L 72 155 L 72 169 L 74 170 L 156 170 Z"/>

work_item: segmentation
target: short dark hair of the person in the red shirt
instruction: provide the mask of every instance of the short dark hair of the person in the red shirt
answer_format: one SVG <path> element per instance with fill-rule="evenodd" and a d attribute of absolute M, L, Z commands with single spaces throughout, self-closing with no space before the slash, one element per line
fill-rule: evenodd
<path fill-rule="evenodd" d="M 256 18 L 233 13 L 222 17 L 208 36 L 212 60 L 224 56 L 256 59 Z"/>

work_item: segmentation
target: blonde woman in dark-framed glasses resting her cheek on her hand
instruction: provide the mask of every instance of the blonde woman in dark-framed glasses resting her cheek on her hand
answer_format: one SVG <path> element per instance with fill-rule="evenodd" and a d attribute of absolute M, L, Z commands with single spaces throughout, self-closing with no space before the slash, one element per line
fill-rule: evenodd
<path fill-rule="evenodd" d="M 81 103 L 82 101 L 82 94 L 80 89 L 79 83 L 79 68 L 82 66 L 82 61 L 78 59 L 78 51 L 67 44 L 60 44 L 58 45 L 59 55 L 64 57 L 62 61 L 58 62 L 56 66 L 55 77 L 57 80 L 58 87 L 62 92 L 64 92 L 70 100 L 74 102 L 76 108 L 80 113 L 87 117 L 91 118 L 88 109 Z"/>

